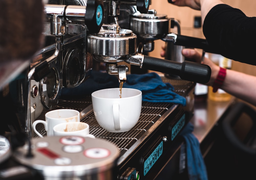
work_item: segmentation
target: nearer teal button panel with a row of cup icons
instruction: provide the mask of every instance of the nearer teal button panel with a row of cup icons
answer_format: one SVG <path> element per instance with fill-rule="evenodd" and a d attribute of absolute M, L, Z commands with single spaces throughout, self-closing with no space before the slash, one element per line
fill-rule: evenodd
<path fill-rule="evenodd" d="M 150 154 L 150 156 L 144 162 L 144 176 L 148 173 L 151 167 L 155 164 L 158 158 L 163 153 L 163 141 L 159 143 L 156 149 Z"/>

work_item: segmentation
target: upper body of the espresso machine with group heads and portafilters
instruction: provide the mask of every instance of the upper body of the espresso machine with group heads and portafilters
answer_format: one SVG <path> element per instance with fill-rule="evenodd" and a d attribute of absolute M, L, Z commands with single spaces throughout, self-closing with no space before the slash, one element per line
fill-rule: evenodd
<path fill-rule="evenodd" d="M 127 65 L 174 74 L 183 80 L 206 83 L 211 70 L 193 62 L 173 62 L 144 55 L 154 49 L 154 40 L 189 43 L 208 48 L 205 40 L 194 43 L 170 33 L 170 18 L 148 10 L 150 1 L 51 0 L 45 4 L 44 47 L 13 83 L 15 123 L 3 131 L 25 131 L 33 137 L 31 124 L 43 111 L 57 107 L 63 88 L 85 82 L 93 66 L 105 64 L 106 72 L 126 81 Z M 127 19 L 128 18 L 128 19 Z M 125 29 L 127 28 L 127 29 Z M 179 38 L 180 37 L 180 38 Z M 10 124 L 9 124 L 10 123 Z"/>

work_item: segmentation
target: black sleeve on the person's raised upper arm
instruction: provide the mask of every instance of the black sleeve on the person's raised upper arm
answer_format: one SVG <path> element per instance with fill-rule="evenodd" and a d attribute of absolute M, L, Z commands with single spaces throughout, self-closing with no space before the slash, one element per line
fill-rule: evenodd
<path fill-rule="evenodd" d="M 207 14 L 203 32 L 209 45 L 221 55 L 256 65 L 256 17 L 241 10 L 218 4 Z"/>

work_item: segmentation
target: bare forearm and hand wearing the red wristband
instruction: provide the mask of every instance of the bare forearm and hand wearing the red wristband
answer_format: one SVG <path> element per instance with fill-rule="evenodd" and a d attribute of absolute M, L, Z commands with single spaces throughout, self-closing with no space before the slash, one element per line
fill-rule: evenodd
<path fill-rule="evenodd" d="M 194 49 L 183 49 L 182 54 L 185 57 L 193 58 L 197 62 L 201 61 L 202 54 Z M 214 64 L 210 59 L 204 58 L 203 64 L 210 66 L 212 70 L 210 81 L 206 84 L 212 86 L 218 76 L 220 67 Z M 226 78 L 221 89 L 227 93 L 251 103 L 256 106 L 256 77 L 244 74 L 238 71 L 227 69 Z"/>

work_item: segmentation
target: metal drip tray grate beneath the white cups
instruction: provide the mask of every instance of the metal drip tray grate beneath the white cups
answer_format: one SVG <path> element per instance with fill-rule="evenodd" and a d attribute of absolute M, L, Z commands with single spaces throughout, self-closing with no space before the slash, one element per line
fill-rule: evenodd
<path fill-rule="evenodd" d="M 91 101 L 89 103 L 87 98 L 83 98 L 84 102 L 76 102 L 74 100 L 68 103 L 68 100 L 60 100 L 57 109 L 76 109 L 82 112 L 83 109 L 89 110 L 86 112 L 86 116 L 81 117 L 80 121 L 90 125 L 90 134 L 93 134 L 97 138 L 103 138 L 118 146 L 121 154 L 125 153 L 138 139 L 140 139 L 152 125 L 172 106 L 169 103 L 148 103 L 142 102 L 141 116 L 137 124 L 130 131 L 123 133 L 110 133 L 104 130 L 96 121 L 94 116 Z M 79 104 L 79 106 L 78 106 Z M 45 119 L 42 113 L 38 119 Z M 81 115 L 81 113 L 80 113 Z M 36 127 L 42 136 L 46 136 L 44 126 L 38 124 Z M 35 138 L 37 135 L 34 136 Z"/>

